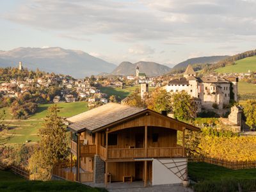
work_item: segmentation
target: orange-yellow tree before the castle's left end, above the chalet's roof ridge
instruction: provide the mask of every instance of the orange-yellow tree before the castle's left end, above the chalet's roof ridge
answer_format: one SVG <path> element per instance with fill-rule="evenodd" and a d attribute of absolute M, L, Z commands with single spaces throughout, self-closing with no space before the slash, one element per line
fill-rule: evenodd
<path fill-rule="evenodd" d="M 157 112 L 172 111 L 172 94 L 157 88 L 154 92 L 145 95 L 145 102 L 148 109 Z"/>

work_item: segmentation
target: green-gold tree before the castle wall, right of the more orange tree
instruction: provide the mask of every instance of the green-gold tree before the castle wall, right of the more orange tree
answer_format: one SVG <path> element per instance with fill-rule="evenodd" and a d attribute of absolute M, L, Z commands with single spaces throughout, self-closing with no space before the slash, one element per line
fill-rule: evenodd
<path fill-rule="evenodd" d="M 196 117 L 196 104 L 186 92 L 173 94 L 173 114 L 178 120 L 190 120 Z"/>

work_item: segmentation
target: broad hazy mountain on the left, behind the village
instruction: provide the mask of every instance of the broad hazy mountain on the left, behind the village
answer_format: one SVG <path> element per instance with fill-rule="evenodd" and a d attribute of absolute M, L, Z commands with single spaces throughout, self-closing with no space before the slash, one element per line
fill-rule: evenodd
<path fill-rule="evenodd" d="M 29 70 L 44 70 L 56 74 L 67 74 L 76 78 L 112 72 L 116 65 L 91 56 L 83 51 L 61 47 L 19 47 L 11 51 L 0 51 L 0 67 L 17 67 L 19 61 Z"/>

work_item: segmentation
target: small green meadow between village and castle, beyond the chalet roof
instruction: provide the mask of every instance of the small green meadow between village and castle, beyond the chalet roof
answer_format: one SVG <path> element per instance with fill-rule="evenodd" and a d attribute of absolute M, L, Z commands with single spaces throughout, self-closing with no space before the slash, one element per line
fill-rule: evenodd
<path fill-rule="evenodd" d="M 113 87 L 101 87 L 99 88 L 102 93 L 108 94 L 108 97 L 111 95 L 115 95 L 119 99 L 125 99 L 125 97 L 129 96 L 136 89 L 140 89 L 140 86 L 130 86 L 127 88 L 113 88 Z M 154 88 L 150 87 L 149 92 L 154 90 Z"/>

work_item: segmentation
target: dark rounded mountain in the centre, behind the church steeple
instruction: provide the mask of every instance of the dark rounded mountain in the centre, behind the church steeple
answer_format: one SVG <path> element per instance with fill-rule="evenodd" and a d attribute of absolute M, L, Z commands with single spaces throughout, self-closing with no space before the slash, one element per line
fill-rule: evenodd
<path fill-rule="evenodd" d="M 137 67 L 139 67 L 140 72 L 145 73 L 147 76 L 161 76 L 171 70 L 170 67 L 150 61 L 139 61 L 137 63 L 124 61 L 111 74 L 121 76 L 135 75 Z"/>

